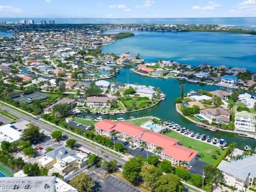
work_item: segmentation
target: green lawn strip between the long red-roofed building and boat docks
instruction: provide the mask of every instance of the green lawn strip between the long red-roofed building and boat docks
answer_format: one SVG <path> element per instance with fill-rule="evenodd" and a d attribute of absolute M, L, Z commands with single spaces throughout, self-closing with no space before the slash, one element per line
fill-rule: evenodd
<path fill-rule="evenodd" d="M 173 130 L 165 135 L 180 140 L 180 144 L 187 148 L 198 151 L 198 156 L 200 156 L 200 160 L 209 164 L 214 163 L 215 160 L 212 160 L 211 156 L 216 155 L 216 150 L 222 153 L 222 151 L 217 146 L 213 146 L 211 144 L 192 139 Z"/>

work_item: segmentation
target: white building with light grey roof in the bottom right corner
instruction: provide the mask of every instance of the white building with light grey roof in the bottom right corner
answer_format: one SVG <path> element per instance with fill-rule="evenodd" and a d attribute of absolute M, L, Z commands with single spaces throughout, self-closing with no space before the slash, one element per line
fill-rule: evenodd
<path fill-rule="evenodd" d="M 217 168 L 223 172 L 227 184 L 233 182 L 243 188 L 256 182 L 256 155 L 232 162 L 222 160 Z"/>

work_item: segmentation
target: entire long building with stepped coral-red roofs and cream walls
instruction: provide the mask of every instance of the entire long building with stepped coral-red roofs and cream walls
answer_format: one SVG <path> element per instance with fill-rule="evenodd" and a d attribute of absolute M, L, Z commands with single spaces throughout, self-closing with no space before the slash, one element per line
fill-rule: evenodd
<path fill-rule="evenodd" d="M 162 159 L 170 160 L 174 164 L 180 165 L 181 162 L 187 162 L 191 166 L 196 162 L 198 152 L 179 145 L 179 140 L 168 136 L 149 131 L 145 128 L 129 124 L 127 122 L 112 122 L 104 119 L 94 124 L 98 134 L 112 136 L 114 132 L 123 138 L 130 137 L 132 142 L 139 146 L 141 142 L 146 142 L 147 146 L 153 150 L 157 147 L 162 148 L 159 151 Z"/>

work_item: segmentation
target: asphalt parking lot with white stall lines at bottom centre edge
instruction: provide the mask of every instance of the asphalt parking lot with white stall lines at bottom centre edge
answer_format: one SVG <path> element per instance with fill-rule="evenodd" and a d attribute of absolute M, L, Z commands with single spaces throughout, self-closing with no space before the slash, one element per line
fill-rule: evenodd
<path fill-rule="evenodd" d="M 96 180 L 94 192 L 142 192 L 142 190 L 139 190 L 113 175 L 103 179 L 95 173 L 92 173 L 90 177 Z"/>

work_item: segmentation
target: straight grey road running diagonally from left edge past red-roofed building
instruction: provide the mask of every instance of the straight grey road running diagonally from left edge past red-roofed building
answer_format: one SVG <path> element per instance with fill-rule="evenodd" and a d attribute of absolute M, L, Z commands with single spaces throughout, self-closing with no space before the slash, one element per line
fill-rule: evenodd
<path fill-rule="evenodd" d="M 42 128 L 43 130 L 46 130 L 50 133 L 54 132 L 55 128 L 53 128 L 52 126 L 48 125 L 48 124 L 44 124 L 43 122 L 41 122 L 38 118 L 31 118 L 31 117 L 28 117 L 20 112 L 17 112 L 11 108 L 8 108 L 6 106 L 0 106 L 0 108 L 4 109 L 4 110 L 7 110 L 9 113 L 11 114 L 14 114 L 24 120 L 27 120 L 28 122 L 36 125 L 36 126 L 39 126 L 40 128 Z M 126 160 L 122 159 L 122 158 L 119 158 L 117 156 L 114 156 L 113 154 L 109 153 L 109 152 L 106 152 L 104 151 L 104 154 L 101 153 L 101 149 L 97 150 L 97 147 L 96 146 L 93 146 L 92 144 L 89 144 L 87 142 L 84 142 L 83 140 L 80 140 L 78 138 L 75 138 L 73 137 L 72 135 L 68 134 L 68 132 L 65 133 L 69 138 L 72 138 L 72 139 L 75 139 L 77 141 L 78 144 L 80 144 L 82 147 L 86 148 L 87 150 L 90 150 L 92 153 L 95 153 L 95 154 L 98 154 L 99 156 L 104 156 L 105 159 L 107 160 L 117 160 L 118 162 L 118 167 L 120 166 L 124 166 Z M 108 157 L 106 157 L 108 156 Z"/>

